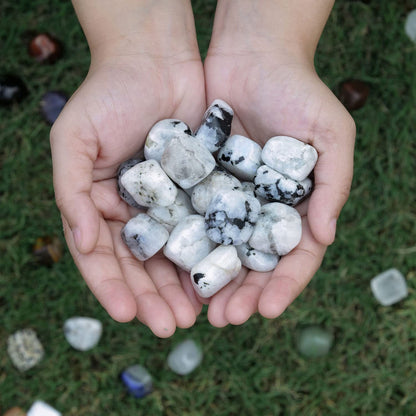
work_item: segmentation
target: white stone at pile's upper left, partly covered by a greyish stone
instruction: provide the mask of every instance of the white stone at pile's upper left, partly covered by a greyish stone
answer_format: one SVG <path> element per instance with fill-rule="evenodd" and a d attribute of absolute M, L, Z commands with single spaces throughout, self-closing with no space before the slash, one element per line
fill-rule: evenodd
<path fill-rule="evenodd" d="M 144 144 L 144 157 L 160 163 L 166 145 L 174 137 L 192 135 L 189 126 L 181 120 L 165 119 L 158 121 L 147 134 Z"/>

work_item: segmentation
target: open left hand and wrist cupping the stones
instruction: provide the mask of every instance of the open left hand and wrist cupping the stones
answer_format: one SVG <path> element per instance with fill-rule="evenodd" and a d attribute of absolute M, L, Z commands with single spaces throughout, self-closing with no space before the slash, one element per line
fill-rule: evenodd
<path fill-rule="evenodd" d="M 175 16 L 165 13 L 169 7 Z M 161 254 L 140 262 L 122 242 L 121 228 L 137 210 L 118 196 L 115 174 L 158 120 L 178 118 L 192 128 L 201 120 L 204 76 L 189 7 L 170 1 L 149 6 L 142 16 L 147 23 L 134 22 L 143 32 L 105 42 L 84 27 L 91 68 L 51 131 L 56 201 L 77 267 L 115 320 L 136 316 L 159 337 L 193 325 L 201 304 L 188 274 Z M 84 10 L 80 20 L 85 23 Z"/>

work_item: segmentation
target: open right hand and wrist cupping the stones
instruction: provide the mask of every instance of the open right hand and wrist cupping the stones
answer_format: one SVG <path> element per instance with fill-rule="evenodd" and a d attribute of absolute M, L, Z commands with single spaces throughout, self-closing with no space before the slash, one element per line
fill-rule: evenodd
<path fill-rule="evenodd" d="M 304 42 L 288 40 L 287 33 L 276 31 L 279 22 L 272 17 L 271 25 L 267 24 L 277 3 L 270 4 L 261 19 L 256 15 L 258 4 L 219 3 L 204 64 L 207 101 L 221 98 L 231 105 L 235 111 L 232 134 L 261 145 L 272 136 L 288 135 L 314 146 L 319 154 L 315 188 L 298 207 L 303 234 L 296 249 L 273 272 L 243 269 L 210 299 L 208 318 L 219 327 L 241 324 L 256 311 L 267 318 L 283 313 L 311 280 L 334 241 L 336 220 L 352 180 L 355 124 L 315 73 L 314 50 L 311 53 Z"/>

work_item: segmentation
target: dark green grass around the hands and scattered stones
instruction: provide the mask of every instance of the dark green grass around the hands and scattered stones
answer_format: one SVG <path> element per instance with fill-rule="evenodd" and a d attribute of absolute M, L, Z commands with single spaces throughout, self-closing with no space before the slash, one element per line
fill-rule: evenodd
<path fill-rule="evenodd" d="M 194 1 L 205 54 L 215 2 Z M 241 327 L 216 329 L 203 313 L 197 324 L 167 340 L 144 326 L 113 322 L 86 288 L 66 251 L 52 268 L 35 265 L 36 237 L 62 237 L 53 201 L 49 127 L 38 103 L 46 90 L 70 94 L 85 76 L 89 55 L 69 2 L 10 1 L 0 5 L 1 72 L 15 72 L 30 96 L 0 108 L 0 413 L 42 399 L 65 415 L 415 415 L 416 392 L 416 45 L 403 31 L 413 1 L 338 1 L 325 29 L 316 66 L 334 90 L 349 77 L 371 84 L 357 123 L 355 176 L 336 243 L 303 294 L 279 319 L 254 316 Z M 414 5 L 413 5 L 414 6 Z M 26 51 L 30 31 L 65 43 L 55 65 Z M 379 306 L 369 281 L 396 267 L 409 297 Z M 104 323 L 99 345 L 73 350 L 62 333 L 73 315 Z M 297 329 L 319 324 L 334 331 L 330 354 L 305 359 Z M 34 328 L 46 355 L 19 373 L 7 337 Z M 203 345 L 197 371 L 170 372 L 169 350 L 186 337 Z M 154 377 L 155 391 L 128 396 L 118 374 L 134 363 Z"/>

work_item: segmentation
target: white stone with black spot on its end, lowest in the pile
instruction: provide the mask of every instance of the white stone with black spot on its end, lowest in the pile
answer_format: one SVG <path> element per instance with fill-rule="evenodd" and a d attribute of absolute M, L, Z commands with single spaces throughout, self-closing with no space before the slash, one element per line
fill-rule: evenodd
<path fill-rule="evenodd" d="M 233 280 L 240 270 L 237 249 L 219 246 L 192 267 L 192 285 L 199 296 L 209 298 Z"/>

